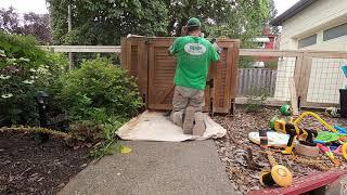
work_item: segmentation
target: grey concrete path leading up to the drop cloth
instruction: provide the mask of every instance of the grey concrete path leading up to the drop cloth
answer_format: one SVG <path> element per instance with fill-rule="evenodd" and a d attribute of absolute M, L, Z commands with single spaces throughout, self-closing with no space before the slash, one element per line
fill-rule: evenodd
<path fill-rule="evenodd" d="M 130 154 L 106 156 L 59 194 L 234 194 L 215 143 L 124 142 Z"/>

